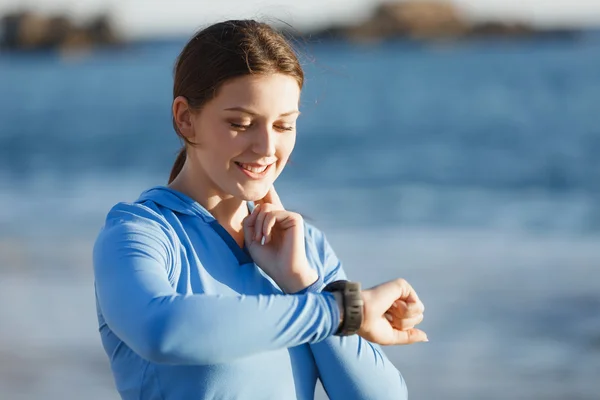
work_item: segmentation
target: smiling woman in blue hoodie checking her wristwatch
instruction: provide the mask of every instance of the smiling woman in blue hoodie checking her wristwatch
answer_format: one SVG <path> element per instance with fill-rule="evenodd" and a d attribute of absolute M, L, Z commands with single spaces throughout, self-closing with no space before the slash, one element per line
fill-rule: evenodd
<path fill-rule="evenodd" d="M 185 141 L 168 186 L 115 205 L 94 247 L 100 334 L 123 399 L 404 399 L 379 345 L 427 341 L 404 280 L 360 291 L 273 187 L 303 72 L 268 25 L 194 36 L 175 69 Z"/>

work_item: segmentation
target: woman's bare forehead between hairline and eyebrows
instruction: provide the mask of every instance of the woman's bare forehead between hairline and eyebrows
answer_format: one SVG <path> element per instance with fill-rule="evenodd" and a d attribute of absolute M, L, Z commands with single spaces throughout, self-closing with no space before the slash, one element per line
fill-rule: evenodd
<path fill-rule="evenodd" d="M 217 92 L 213 103 L 226 109 L 248 107 L 265 114 L 280 114 L 297 109 L 300 87 L 284 74 L 246 75 L 231 79 Z"/>

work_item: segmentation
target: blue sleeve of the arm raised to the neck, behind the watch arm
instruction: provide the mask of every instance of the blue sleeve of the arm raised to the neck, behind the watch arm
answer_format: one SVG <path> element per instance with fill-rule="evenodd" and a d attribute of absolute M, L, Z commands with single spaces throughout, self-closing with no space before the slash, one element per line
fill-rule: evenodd
<path fill-rule="evenodd" d="M 324 266 L 324 284 L 347 279 L 342 263 L 322 233 L 315 242 Z M 330 336 L 310 344 L 323 388 L 332 400 L 408 398 L 401 373 L 381 346 L 358 335 Z"/>

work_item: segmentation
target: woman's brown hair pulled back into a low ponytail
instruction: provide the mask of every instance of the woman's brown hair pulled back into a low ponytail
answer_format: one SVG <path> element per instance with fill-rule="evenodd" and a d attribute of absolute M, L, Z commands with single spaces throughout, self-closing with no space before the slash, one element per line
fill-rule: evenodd
<path fill-rule="evenodd" d="M 227 80 L 249 74 L 283 73 L 294 77 L 302 89 L 304 72 L 291 44 L 269 25 L 253 20 L 230 20 L 211 25 L 185 45 L 175 64 L 173 99 L 183 96 L 195 110 L 213 99 Z M 177 135 L 192 145 L 177 128 Z M 171 183 L 186 159 L 185 145 L 179 151 Z"/>

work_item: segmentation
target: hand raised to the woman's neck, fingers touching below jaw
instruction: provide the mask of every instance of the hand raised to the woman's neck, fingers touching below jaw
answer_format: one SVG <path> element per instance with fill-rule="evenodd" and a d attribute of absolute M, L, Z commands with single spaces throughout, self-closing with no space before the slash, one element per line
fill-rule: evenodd
<path fill-rule="evenodd" d="M 297 292 L 318 279 L 306 258 L 302 216 L 283 208 L 275 188 L 257 202 L 243 227 L 254 262 L 284 292 Z"/>

